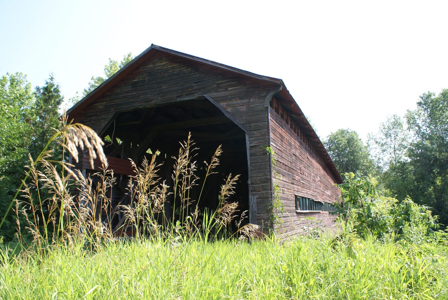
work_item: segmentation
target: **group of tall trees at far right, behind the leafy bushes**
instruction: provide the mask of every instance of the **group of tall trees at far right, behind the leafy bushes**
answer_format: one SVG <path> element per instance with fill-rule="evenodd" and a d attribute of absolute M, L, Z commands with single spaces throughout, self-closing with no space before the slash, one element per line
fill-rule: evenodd
<path fill-rule="evenodd" d="M 406 124 L 393 115 L 369 135 L 369 146 L 380 174 L 379 187 L 388 196 L 432 207 L 448 224 L 448 90 L 420 96 L 408 111 Z"/>

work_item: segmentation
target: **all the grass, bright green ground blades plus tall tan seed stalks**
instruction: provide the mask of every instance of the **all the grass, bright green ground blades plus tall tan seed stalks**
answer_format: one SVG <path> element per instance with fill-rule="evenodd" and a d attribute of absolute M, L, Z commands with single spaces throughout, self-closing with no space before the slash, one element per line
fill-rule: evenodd
<path fill-rule="evenodd" d="M 75 160 L 82 147 L 105 158 L 98 136 L 80 124 L 63 124 L 54 140 Z M 286 243 L 255 240 L 257 227 L 242 226 L 245 212 L 236 218 L 237 204 L 227 201 L 238 178 L 231 174 L 218 208 L 199 213 L 221 150 L 201 181 L 194 149 L 190 136 L 181 143 L 172 183 L 160 182 L 156 155 L 135 165 L 127 187 L 132 201 L 115 208 L 106 161 L 94 181 L 52 161 L 47 150 L 31 160 L 22 198 L 13 203 L 32 241 L 24 243 L 19 231 L 18 253 L 0 249 L 0 299 L 448 299 L 446 245 L 325 233 Z M 164 214 L 169 184 L 180 205 L 177 219 Z M 198 199 L 190 197 L 195 184 L 202 187 Z M 125 217 L 112 226 L 118 211 Z M 225 230 L 232 222 L 233 235 Z M 116 237 L 129 228 L 134 239 Z"/>

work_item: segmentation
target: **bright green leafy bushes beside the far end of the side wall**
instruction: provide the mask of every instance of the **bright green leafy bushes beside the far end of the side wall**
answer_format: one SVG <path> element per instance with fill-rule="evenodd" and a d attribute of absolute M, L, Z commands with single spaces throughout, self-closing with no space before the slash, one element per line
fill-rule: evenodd
<path fill-rule="evenodd" d="M 400 202 L 380 196 L 375 178 L 359 172 L 345 173 L 343 179 L 344 183 L 337 185 L 343 201 L 336 207 L 349 231 L 361 237 L 373 234 L 413 243 L 434 237 L 433 229 L 438 228 L 438 223 L 429 207 L 418 205 L 410 198 Z"/>

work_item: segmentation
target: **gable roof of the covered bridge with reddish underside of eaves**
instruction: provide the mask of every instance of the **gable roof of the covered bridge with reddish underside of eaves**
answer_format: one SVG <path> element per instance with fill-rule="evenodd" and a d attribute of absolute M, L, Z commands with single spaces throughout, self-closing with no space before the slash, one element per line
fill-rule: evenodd
<path fill-rule="evenodd" d="M 203 59 L 201 57 L 195 57 L 190 54 L 178 52 L 175 50 L 171 50 L 168 48 L 160 47 L 154 44 L 151 44 L 149 48 L 147 48 L 145 51 L 143 51 L 140 55 L 135 57 L 132 61 L 130 61 L 128 64 L 126 64 L 123 68 L 118 70 L 115 74 L 113 74 L 111 77 L 109 77 L 106 81 L 101 83 L 98 87 L 95 88 L 95 90 L 91 91 L 88 95 L 86 95 L 82 100 L 80 100 L 78 103 L 73 105 L 72 108 L 70 108 L 67 112 L 67 115 L 69 119 L 73 119 L 78 113 L 82 111 L 83 108 L 85 108 L 87 105 L 92 103 L 95 99 L 97 99 L 99 96 L 103 95 L 104 92 L 108 91 L 109 88 L 111 88 L 113 85 L 118 83 L 122 78 L 124 78 L 126 75 L 134 71 L 138 68 L 139 65 L 141 65 L 144 61 L 151 58 L 155 53 L 157 52 L 164 52 L 168 54 L 175 55 L 177 57 L 183 57 L 185 59 L 188 59 L 190 61 L 197 61 L 198 63 L 210 65 L 216 68 L 220 68 L 222 70 L 227 70 L 233 73 L 237 73 L 243 76 L 248 76 L 251 78 L 255 78 L 258 80 L 265 81 L 266 83 L 276 84 L 278 85 L 278 88 L 276 90 L 273 90 L 272 93 L 270 93 L 267 96 L 266 99 L 266 106 L 269 106 L 269 100 L 271 100 L 271 97 L 274 96 L 274 94 L 280 96 L 279 102 L 282 104 L 285 109 L 287 109 L 291 116 L 297 121 L 298 125 L 300 125 L 302 128 L 305 128 L 303 132 L 307 136 L 308 139 L 310 139 L 311 143 L 313 143 L 314 147 L 323 155 L 324 160 L 327 162 L 328 168 L 332 171 L 332 174 L 335 176 L 336 180 L 339 181 L 339 183 L 342 183 L 342 178 L 340 177 L 340 174 L 338 170 L 336 169 L 336 166 L 334 165 L 330 155 L 328 154 L 327 150 L 323 147 L 323 143 L 319 139 L 319 136 L 316 134 L 314 129 L 311 127 L 310 122 L 306 120 L 305 115 L 302 112 L 302 109 L 298 106 L 297 102 L 294 100 L 293 96 L 289 93 L 288 89 L 284 85 L 283 80 L 279 78 L 274 77 L 268 77 L 263 75 L 258 75 L 255 73 L 251 73 L 245 70 L 237 69 L 228 65 L 220 64 L 215 61 L 210 61 L 207 59 Z"/>

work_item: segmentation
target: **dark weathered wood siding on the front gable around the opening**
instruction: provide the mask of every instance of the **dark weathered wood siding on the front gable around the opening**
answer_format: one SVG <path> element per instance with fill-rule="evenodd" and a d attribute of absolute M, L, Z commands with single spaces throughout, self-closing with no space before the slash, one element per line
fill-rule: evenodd
<path fill-rule="evenodd" d="M 261 225 L 267 223 L 271 201 L 270 162 L 262 146 L 269 143 L 264 102 L 272 88 L 258 79 L 158 52 L 77 113 L 75 121 L 99 132 L 119 111 L 210 95 L 249 129 L 251 195 L 257 197 Z"/>

